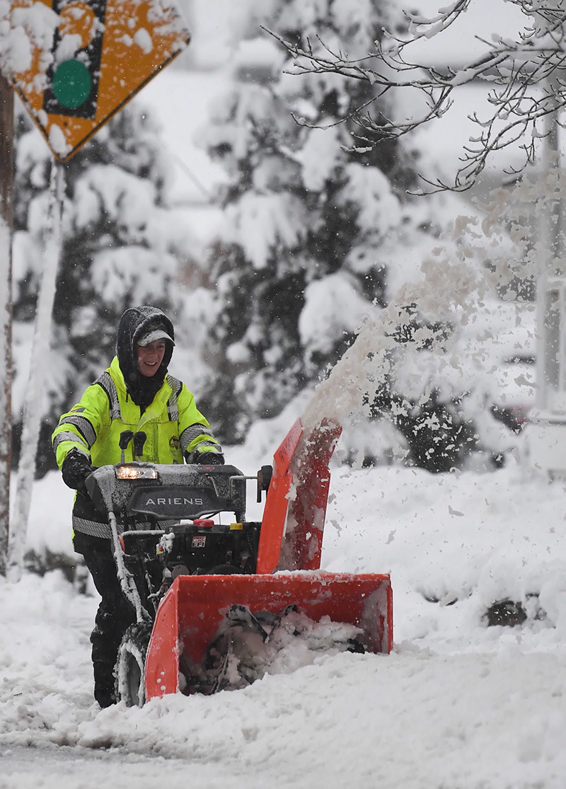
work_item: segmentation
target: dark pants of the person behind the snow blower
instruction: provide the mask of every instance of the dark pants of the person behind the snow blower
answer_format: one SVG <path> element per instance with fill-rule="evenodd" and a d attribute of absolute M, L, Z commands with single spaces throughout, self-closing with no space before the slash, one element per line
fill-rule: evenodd
<path fill-rule="evenodd" d="M 111 540 L 75 532 L 73 544 L 75 551 L 84 556 L 84 562 L 102 598 L 91 634 L 92 667 L 94 696 L 101 707 L 108 707 L 116 703 L 114 665 L 118 647 L 126 628 L 136 621 L 136 614 L 122 594 Z"/>

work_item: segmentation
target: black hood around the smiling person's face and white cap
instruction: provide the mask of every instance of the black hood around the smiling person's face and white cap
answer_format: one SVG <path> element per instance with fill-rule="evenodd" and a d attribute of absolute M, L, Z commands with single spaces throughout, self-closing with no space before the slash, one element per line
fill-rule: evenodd
<path fill-rule="evenodd" d="M 163 327 L 174 340 L 173 323 L 157 307 L 130 307 L 126 309 L 118 323 L 116 356 L 124 376 L 126 391 L 133 402 L 143 409 L 148 407 L 163 385 L 173 353 L 171 342 L 166 341 L 163 361 L 155 376 L 142 376 L 137 368 L 137 341 L 150 329 L 156 327 Z"/>

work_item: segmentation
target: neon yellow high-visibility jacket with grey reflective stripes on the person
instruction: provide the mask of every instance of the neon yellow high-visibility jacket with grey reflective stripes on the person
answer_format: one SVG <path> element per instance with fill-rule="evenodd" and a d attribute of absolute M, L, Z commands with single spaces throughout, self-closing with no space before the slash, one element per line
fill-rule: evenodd
<path fill-rule="evenodd" d="M 193 394 L 184 383 L 167 374 L 152 403 L 141 413 L 126 392 L 118 358 L 89 386 L 80 402 L 64 413 L 52 440 L 59 468 L 67 453 L 84 452 L 92 466 L 114 465 L 121 459 L 118 446 L 124 430 L 143 431 L 147 439 L 141 460 L 154 463 L 182 463 L 186 454 L 221 452 L 208 421 L 197 409 Z M 133 460 L 133 443 L 126 450 Z"/>

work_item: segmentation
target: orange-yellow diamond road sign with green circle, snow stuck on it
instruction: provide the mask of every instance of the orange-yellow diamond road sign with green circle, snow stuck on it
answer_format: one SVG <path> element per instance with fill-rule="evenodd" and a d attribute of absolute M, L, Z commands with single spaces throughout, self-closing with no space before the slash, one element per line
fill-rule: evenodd
<path fill-rule="evenodd" d="M 186 47 L 189 32 L 168 0 L 40 2 L 51 9 L 51 50 L 31 37 L 31 65 L 8 76 L 64 162 Z M 13 17 L 24 8 L 28 0 L 13 0 Z"/>

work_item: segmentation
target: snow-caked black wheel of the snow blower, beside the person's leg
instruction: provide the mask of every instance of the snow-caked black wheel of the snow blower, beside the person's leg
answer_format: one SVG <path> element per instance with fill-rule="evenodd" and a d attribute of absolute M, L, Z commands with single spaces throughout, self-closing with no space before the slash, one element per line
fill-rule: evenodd
<path fill-rule="evenodd" d="M 116 698 L 128 707 L 143 707 L 145 701 L 145 656 L 152 623 L 130 625 L 122 637 L 116 661 Z"/>

